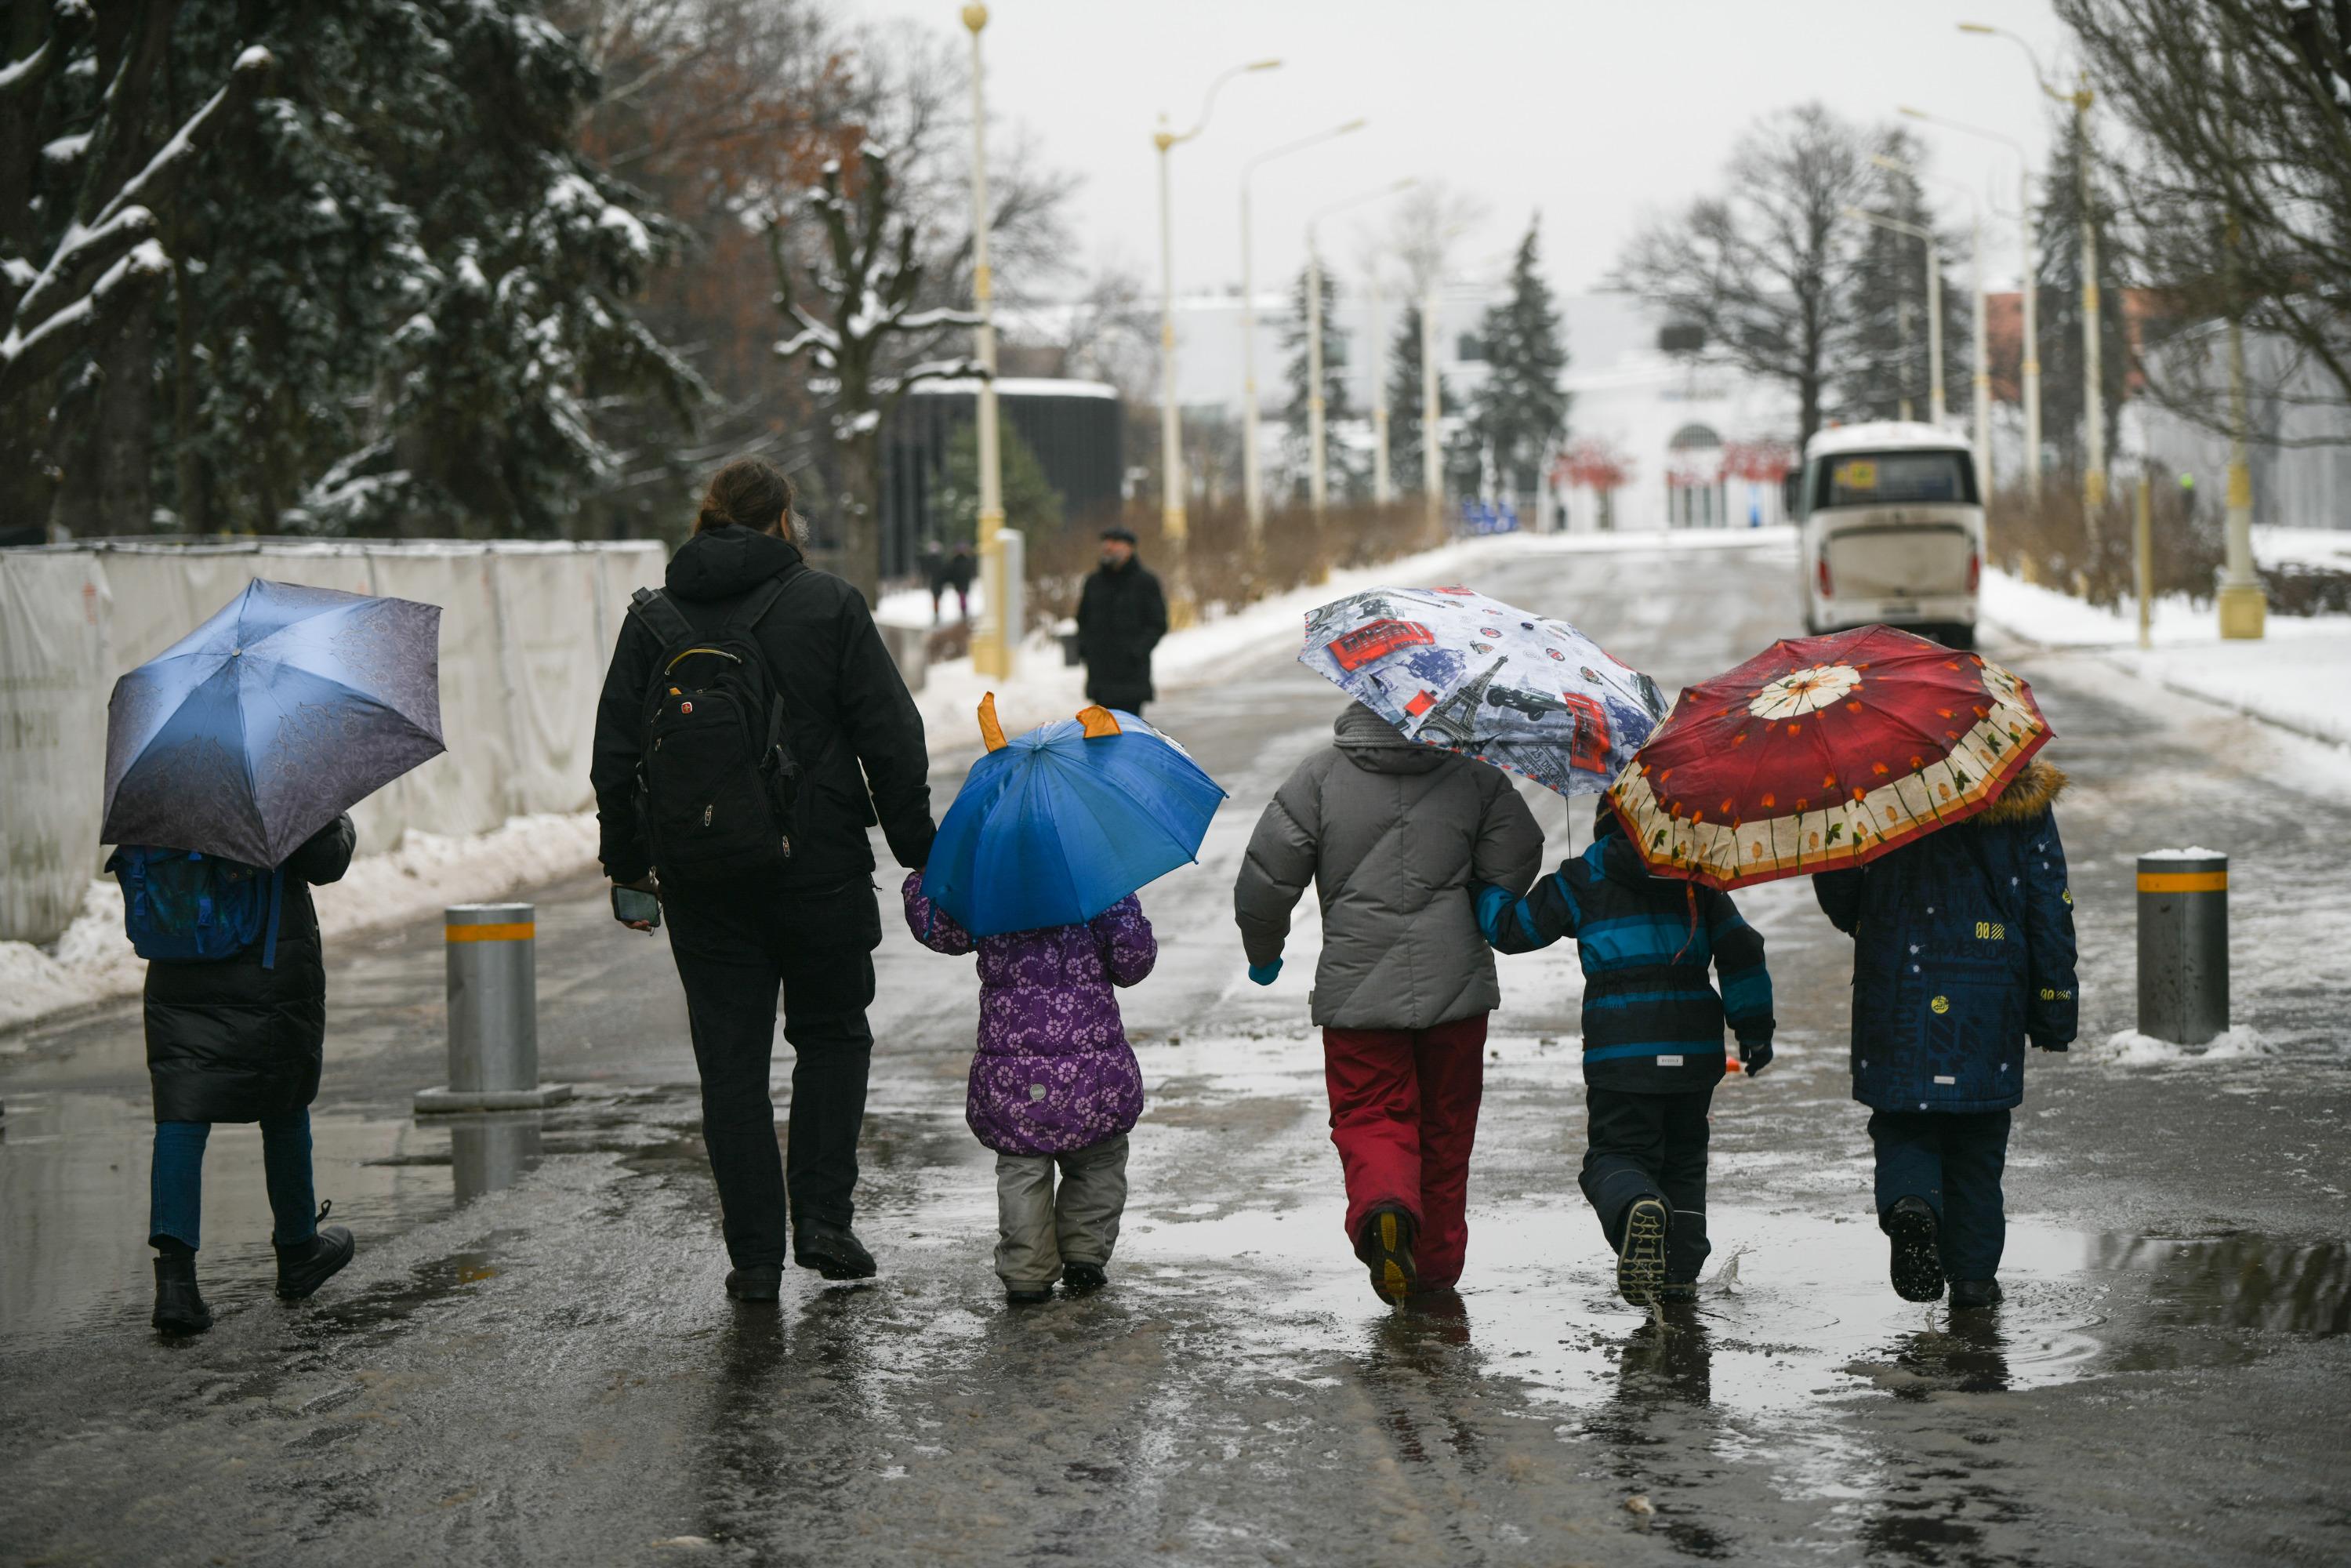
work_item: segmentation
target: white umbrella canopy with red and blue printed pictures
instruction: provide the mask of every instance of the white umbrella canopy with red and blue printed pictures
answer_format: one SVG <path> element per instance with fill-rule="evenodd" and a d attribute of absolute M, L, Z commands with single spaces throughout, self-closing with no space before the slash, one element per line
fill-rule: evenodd
<path fill-rule="evenodd" d="M 1599 795 L 1665 715 L 1657 682 L 1566 621 L 1469 588 L 1373 588 L 1307 616 L 1307 670 L 1406 738 Z"/>

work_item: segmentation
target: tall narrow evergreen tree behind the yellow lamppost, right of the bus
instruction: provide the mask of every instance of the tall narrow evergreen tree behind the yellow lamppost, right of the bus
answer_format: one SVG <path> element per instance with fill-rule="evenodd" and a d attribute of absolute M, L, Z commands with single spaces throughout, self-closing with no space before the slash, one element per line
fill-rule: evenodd
<path fill-rule="evenodd" d="M 2081 355 L 2081 160 L 2078 122 L 2067 115 L 2048 183 L 2041 195 L 2041 435 L 2057 449 L 2064 470 L 2083 465 L 2083 355 Z M 2090 162 L 2090 212 L 2097 226 L 2097 369 L 2106 395 L 2106 454 L 2114 458 L 2123 397 L 2130 378 L 2130 339 L 2123 327 L 2123 287 L 2114 235 L 2114 197 Z"/>

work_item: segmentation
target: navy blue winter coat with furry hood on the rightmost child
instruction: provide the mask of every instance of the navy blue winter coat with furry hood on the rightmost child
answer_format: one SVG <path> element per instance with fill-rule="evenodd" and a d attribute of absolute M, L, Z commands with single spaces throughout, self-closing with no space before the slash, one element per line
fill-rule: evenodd
<path fill-rule="evenodd" d="M 2008 1110 L 2024 1041 L 2074 1041 L 2074 893 L 2031 762 L 1980 816 L 1869 865 L 1813 877 L 1853 936 L 1853 1098 L 1874 1110 Z"/>

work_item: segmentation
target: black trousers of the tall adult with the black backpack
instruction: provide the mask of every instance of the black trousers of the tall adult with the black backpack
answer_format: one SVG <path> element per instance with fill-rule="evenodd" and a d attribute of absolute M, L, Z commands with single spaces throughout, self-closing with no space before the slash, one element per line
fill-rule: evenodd
<path fill-rule="evenodd" d="M 849 1225 L 858 1128 L 872 1065 L 872 950 L 882 910 L 872 884 L 818 893 L 773 886 L 665 893 L 670 957 L 686 990 L 694 1065 L 703 1079 L 703 1145 L 719 1187 L 736 1267 L 783 1262 L 792 1222 Z M 776 1152 L 769 1070 L 776 992 L 792 1041 L 788 1154 Z"/>

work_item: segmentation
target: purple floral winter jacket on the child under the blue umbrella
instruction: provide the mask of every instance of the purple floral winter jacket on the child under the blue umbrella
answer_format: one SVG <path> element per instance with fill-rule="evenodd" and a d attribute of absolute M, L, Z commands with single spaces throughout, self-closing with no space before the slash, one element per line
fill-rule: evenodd
<path fill-rule="evenodd" d="M 1117 1138 L 1143 1114 L 1143 1067 L 1114 985 L 1152 973 L 1159 943 L 1128 893 L 1084 926 L 973 940 L 905 879 L 905 924 L 931 952 L 980 954 L 980 1048 L 964 1121 L 999 1154 L 1067 1154 Z"/>

